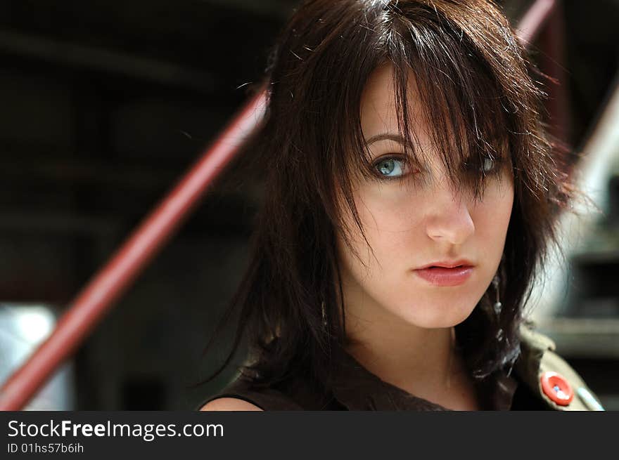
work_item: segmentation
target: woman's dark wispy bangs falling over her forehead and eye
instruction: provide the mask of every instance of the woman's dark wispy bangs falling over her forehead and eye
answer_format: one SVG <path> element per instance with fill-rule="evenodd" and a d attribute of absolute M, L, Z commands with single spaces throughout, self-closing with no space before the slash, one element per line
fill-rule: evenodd
<path fill-rule="evenodd" d="M 430 18 L 430 11 L 417 8 L 415 24 L 401 14 L 385 11 L 388 29 L 378 40 L 381 59 L 374 70 L 381 65 L 393 67 L 397 129 L 410 164 L 423 169 L 428 164 L 429 147 L 454 186 L 480 200 L 487 177 L 500 180 L 512 162 L 510 133 L 517 123 L 506 116 L 511 101 L 487 57 L 457 25 L 446 26 L 447 20 L 439 22 L 434 11 Z M 357 96 L 360 99 L 359 93 Z M 355 103 L 347 105 L 357 107 Z M 413 107 L 418 107 L 419 113 Z M 342 133 L 346 176 L 356 172 L 363 178 L 376 178 L 361 128 L 360 101 L 355 117 L 344 119 L 349 125 Z M 430 146 L 419 140 L 416 125 L 420 121 L 428 127 Z M 484 169 L 488 160 L 496 164 L 491 173 Z"/>

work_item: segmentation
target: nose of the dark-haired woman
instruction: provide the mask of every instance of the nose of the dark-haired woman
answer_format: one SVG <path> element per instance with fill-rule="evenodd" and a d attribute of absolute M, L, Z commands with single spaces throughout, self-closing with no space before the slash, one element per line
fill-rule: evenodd
<path fill-rule="evenodd" d="M 430 195 L 426 232 L 436 242 L 454 245 L 463 244 L 475 232 L 468 199 L 449 180 Z"/>

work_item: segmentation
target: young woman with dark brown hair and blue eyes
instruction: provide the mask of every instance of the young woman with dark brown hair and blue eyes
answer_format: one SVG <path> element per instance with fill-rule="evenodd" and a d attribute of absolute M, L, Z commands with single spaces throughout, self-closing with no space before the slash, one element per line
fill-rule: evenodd
<path fill-rule="evenodd" d="M 573 199 L 532 71 L 490 1 L 296 9 L 248 154 L 266 194 L 214 376 L 242 341 L 248 355 L 203 410 L 599 405 L 525 320 Z"/>

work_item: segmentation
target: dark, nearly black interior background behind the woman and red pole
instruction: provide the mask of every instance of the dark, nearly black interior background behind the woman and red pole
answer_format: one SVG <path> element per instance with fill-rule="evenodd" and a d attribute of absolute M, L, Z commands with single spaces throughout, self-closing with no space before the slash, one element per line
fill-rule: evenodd
<path fill-rule="evenodd" d="M 516 20 L 531 2 L 502 3 Z M 0 302 L 63 311 L 243 105 L 295 4 L 0 0 Z M 618 69 L 619 1 L 563 4 L 577 146 Z M 221 359 L 200 352 L 260 190 L 234 164 L 219 178 L 75 355 L 76 409 L 189 409 L 231 378 L 189 388 Z"/>

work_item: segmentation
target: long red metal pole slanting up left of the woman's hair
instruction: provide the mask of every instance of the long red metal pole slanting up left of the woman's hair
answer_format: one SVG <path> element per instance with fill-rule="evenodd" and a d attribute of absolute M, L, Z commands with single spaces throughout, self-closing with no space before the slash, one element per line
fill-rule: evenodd
<path fill-rule="evenodd" d="M 264 115 L 261 91 L 243 107 L 199 161 L 77 295 L 56 329 L 0 390 L 0 410 L 19 410 L 129 287 L 198 203 Z"/>

